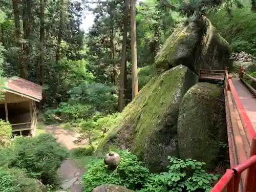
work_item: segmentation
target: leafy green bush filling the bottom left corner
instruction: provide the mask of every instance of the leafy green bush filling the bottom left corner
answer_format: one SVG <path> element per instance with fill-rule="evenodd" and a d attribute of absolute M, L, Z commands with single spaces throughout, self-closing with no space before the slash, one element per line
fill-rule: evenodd
<path fill-rule="evenodd" d="M 26 177 L 24 170 L 17 168 L 0 168 L 1 192 L 42 192 L 44 186 L 36 179 Z"/>

